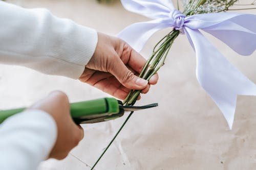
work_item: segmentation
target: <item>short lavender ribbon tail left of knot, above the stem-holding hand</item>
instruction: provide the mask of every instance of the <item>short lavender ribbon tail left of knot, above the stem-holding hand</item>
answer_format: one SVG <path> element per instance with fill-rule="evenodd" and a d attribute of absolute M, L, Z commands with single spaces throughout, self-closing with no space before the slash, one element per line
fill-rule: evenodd
<path fill-rule="evenodd" d="M 126 27 L 117 36 L 129 45 L 134 50 L 140 52 L 146 41 L 157 31 L 171 27 L 169 23 L 162 23 L 162 19 L 151 20 L 147 22 L 137 22 Z"/>

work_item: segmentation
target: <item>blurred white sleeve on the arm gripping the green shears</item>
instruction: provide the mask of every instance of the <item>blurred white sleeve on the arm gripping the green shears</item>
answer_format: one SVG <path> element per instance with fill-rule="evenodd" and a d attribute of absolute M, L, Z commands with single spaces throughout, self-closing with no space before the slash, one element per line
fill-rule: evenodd
<path fill-rule="evenodd" d="M 35 170 L 48 157 L 56 136 L 56 123 L 46 112 L 11 116 L 0 125 L 0 169 Z"/>

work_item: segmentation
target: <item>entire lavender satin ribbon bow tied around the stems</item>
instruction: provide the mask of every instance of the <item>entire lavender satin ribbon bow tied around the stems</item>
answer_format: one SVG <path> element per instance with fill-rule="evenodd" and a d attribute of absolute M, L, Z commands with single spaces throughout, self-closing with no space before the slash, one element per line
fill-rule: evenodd
<path fill-rule="evenodd" d="M 121 0 L 123 7 L 154 20 L 125 28 L 118 37 L 141 51 L 157 31 L 174 27 L 187 36 L 197 58 L 199 84 L 211 96 L 231 129 L 237 95 L 256 95 L 256 85 L 234 67 L 199 31 L 215 36 L 240 55 L 256 50 L 256 15 L 208 13 L 185 16 L 169 0 Z"/>

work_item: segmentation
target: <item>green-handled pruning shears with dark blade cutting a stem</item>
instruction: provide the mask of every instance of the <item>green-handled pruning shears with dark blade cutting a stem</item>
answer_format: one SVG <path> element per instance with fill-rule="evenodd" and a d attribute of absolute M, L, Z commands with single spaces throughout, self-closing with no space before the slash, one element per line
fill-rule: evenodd
<path fill-rule="evenodd" d="M 158 106 L 157 103 L 145 106 L 123 106 L 121 101 L 114 98 L 102 98 L 70 104 L 71 116 L 76 124 L 92 124 L 113 120 L 123 116 L 125 111 L 136 111 Z M 16 113 L 26 108 L 1 110 L 0 124 Z"/>

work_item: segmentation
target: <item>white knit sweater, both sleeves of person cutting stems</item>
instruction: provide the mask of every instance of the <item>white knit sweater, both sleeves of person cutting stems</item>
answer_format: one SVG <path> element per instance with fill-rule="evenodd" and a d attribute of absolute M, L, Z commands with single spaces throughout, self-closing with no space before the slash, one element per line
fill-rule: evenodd
<path fill-rule="evenodd" d="M 46 9 L 24 9 L 0 1 L 0 63 L 77 79 L 91 59 L 97 32 Z M 0 125 L 0 169 L 34 170 L 57 136 L 54 119 L 39 110 Z"/>

